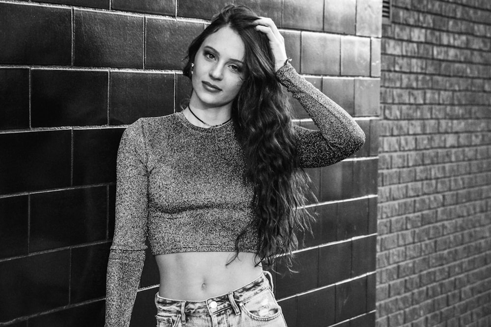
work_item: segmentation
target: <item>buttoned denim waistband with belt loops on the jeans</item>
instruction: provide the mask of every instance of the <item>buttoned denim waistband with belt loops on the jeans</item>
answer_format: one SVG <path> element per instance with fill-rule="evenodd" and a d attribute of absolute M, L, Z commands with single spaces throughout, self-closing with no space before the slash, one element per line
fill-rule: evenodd
<path fill-rule="evenodd" d="M 232 307 L 235 302 L 244 302 L 265 290 L 273 289 L 271 274 L 262 271 L 259 277 L 233 291 L 204 300 L 180 300 L 155 295 L 157 309 L 172 314 L 214 314 Z"/>

